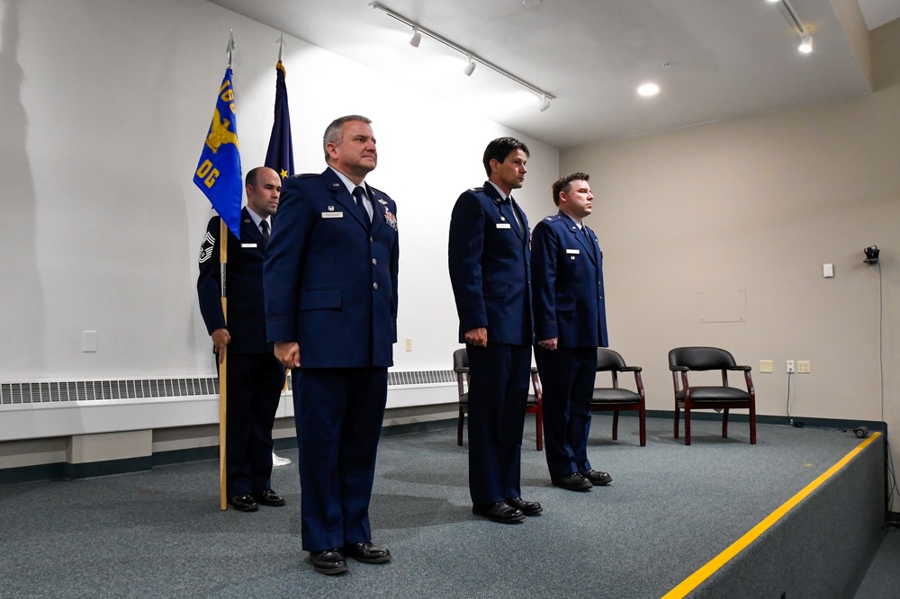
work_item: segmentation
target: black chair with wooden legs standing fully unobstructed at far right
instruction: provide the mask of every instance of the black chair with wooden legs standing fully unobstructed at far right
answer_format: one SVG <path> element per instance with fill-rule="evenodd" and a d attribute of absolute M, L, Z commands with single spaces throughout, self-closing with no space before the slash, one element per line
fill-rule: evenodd
<path fill-rule="evenodd" d="M 734 356 L 717 347 L 676 347 L 669 352 L 669 370 L 675 389 L 675 438 L 679 436 L 680 408 L 684 408 L 684 444 L 690 444 L 690 412 L 697 409 L 722 410 L 722 436 L 728 437 L 728 410 L 750 410 L 750 443 L 756 443 L 756 392 L 750 366 L 738 366 Z M 691 386 L 689 371 L 722 371 L 722 384 Z M 743 372 L 747 390 L 730 387 L 728 372 Z"/>

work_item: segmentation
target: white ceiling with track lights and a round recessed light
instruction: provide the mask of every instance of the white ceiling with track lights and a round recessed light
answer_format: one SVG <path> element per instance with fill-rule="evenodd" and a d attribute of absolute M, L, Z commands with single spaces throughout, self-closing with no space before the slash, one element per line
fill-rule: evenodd
<path fill-rule="evenodd" d="M 900 17 L 900 0 L 858 1 L 869 29 Z M 545 112 L 536 94 L 486 67 L 465 76 L 465 58 L 435 40 L 412 48 L 410 27 L 370 0 L 211 2 L 556 148 L 871 92 L 825 0 L 789 0 L 813 33 L 808 55 L 766 0 L 382 0 L 556 96 Z M 661 93 L 638 96 L 646 81 Z"/>

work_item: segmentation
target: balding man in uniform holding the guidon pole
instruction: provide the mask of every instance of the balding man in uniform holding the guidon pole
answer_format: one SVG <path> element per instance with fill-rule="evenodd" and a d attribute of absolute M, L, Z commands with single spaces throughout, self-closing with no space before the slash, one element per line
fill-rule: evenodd
<path fill-rule="evenodd" d="M 220 218 L 210 219 L 200 250 L 197 293 L 200 311 L 219 363 L 228 348 L 225 420 L 226 492 L 241 512 L 259 504 L 284 505 L 272 490 L 272 425 L 284 387 L 284 366 L 266 343 L 263 255 L 278 208 L 281 178 L 261 166 L 247 173 L 247 206 L 241 210 L 240 239 L 228 233 L 228 325 L 221 306 Z"/>

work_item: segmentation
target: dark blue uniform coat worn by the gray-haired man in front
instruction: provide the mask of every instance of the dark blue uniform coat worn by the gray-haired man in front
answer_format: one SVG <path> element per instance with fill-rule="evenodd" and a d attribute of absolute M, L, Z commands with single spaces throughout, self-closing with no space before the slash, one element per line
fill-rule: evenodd
<path fill-rule="evenodd" d="M 284 179 L 266 248 L 268 340 L 300 344 L 302 368 L 393 365 L 397 205 L 369 186 L 364 223 L 330 168 Z"/>

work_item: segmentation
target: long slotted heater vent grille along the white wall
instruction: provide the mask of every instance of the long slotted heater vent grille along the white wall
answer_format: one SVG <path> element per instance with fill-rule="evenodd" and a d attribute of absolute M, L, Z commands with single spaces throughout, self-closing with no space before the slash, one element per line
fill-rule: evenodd
<path fill-rule="evenodd" d="M 389 371 L 388 387 L 453 383 L 454 371 Z M 288 389 L 293 389 L 290 377 Z M 219 394 L 217 377 L 0 383 L 0 406 Z"/>

